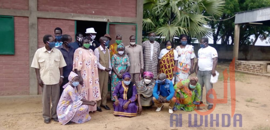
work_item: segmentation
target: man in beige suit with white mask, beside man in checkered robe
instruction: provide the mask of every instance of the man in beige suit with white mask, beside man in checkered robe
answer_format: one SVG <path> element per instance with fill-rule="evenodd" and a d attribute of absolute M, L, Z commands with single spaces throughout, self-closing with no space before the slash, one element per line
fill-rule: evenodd
<path fill-rule="evenodd" d="M 143 53 L 142 46 L 136 44 L 136 37 L 134 35 L 129 37 L 130 45 L 125 49 L 125 53 L 130 60 L 129 73 L 131 81 L 137 86 L 140 81 L 141 74 L 143 74 Z"/>

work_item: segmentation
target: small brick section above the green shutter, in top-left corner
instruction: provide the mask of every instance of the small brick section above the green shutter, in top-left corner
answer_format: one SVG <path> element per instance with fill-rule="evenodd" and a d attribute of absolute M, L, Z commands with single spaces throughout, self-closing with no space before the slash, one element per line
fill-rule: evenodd
<path fill-rule="evenodd" d="M 0 8 L 28 10 L 28 0 L 0 0 Z"/>

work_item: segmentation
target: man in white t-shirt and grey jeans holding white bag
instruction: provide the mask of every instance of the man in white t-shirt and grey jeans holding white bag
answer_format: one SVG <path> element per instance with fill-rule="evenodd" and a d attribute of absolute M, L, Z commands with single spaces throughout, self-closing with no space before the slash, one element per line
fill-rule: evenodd
<path fill-rule="evenodd" d="M 207 109 L 213 108 L 214 95 L 213 91 L 209 91 L 213 88 L 213 84 L 210 83 L 211 75 L 216 76 L 216 67 L 218 64 L 218 53 L 217 50 L 208 45 L 208 38 L 203 38 L 200 41 L 200 47 L 198 51 L 198 64 L 196 66 L 196 74 L 201 85 L 201 103 L 202 104 L 202 95 L 203 95 L 203 86 L 206 88 L 206 103 L 208 104 Z M 207 93 L 209 91 L 209 97 Z"/>

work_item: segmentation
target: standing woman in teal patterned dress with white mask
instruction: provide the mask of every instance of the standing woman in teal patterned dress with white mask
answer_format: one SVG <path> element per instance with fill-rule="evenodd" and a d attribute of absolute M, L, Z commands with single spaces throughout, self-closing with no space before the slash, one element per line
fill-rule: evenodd
<path fill-rule="evenodd" d="M 115 86 L 122 81 L 123 74 L 128 72 L 130 67 L 130 62 L 128 55 L 124 54 L 125 46 L 123 43 L 117 45 L 117 52 L 111 58 L 111 67 L 112 67 L 112 74 L 111 74 L 111 94 L 115 90 Z M 113 96 L 111 96 L 111 100 L 114 101 Z"/>

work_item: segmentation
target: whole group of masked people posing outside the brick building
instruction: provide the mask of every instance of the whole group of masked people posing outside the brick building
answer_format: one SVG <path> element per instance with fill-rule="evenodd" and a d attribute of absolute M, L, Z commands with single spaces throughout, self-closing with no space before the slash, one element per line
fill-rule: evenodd
<path fill-rule="evenodd" d="M 173 110 L 192 111 L 196 105 L 200 109 L 202 87 L 206 93 L 213 88 L 210 77 L 215 76 L 217 51 L 207 38 L 200 42 L 194 71 L 196 56 L 193 46 L 187 44 L 187 35 L 180 36 L 181 45 L 175 49 L 166 41 L 166 48 L 160 51 L 155 33 L 142 45 L 136 44 L 132 35 L 128 46 L 122 43 L 122 35 L 116 35 L 110 46 L 109 34 L 96 41 L 94 28 L 86 29 L 86 36 L 78 32 L 75 42 L 70 35 L 63 35 L 61 28 L 54 33 L 55 38 L 43 37 L 45 46 L 36 51 L 31 65 L 42 87 L 44 123 L 51 119 L 63 125 L 84 123 L 91 119 L 89 112 L 102 112 L 101 107 L 110 110 L 106 105 L 108 83 L 113 114 L 124 117 L 141 114 L 142 107 L 153 104 L 159 112 L 163 103 L 169 103 L 170 114 Z M 194 72 L 197 77 L 188 79 Z M 207 104 L 212 109 L 213 102 Z"/>

